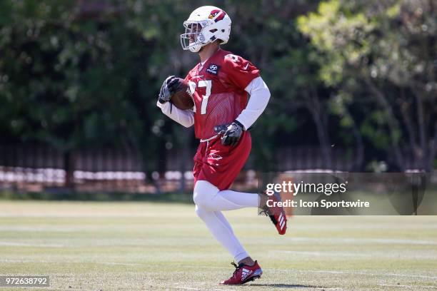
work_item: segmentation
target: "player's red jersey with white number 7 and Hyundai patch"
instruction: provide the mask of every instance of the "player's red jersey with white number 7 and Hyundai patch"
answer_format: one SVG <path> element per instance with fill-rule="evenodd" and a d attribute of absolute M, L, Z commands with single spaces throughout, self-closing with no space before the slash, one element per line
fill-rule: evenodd
<path fill-rule="evenodd" d="M 196 138 L 211 138 L 216 135 L 214 126 L 234 121 L 247 105 L 244 89 L 258 76 L 251 62 L 221 48 L 204 66 L 192 68 L 185 80 L 194 98 Z"/>

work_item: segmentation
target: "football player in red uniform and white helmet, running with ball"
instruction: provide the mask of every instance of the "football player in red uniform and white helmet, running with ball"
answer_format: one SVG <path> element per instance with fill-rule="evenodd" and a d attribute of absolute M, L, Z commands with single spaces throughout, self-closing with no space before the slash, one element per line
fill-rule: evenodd
<path fill-rule="evenodd" d="M 261 277 L 262 270 L 238 241 L 221 211 L 265 205 L 266 195 L 240 193 L 228 188 L 246 163 L 251 150 L 251 135 L 247 130 L 263 113 L 270 92 L 256 66 L 221 48 L 231 33 L 231 19 L 225 11 L 201 6 L 184 21 L 184 26 L 182 48 L 198 53 L 200 57 L 200 63 L 185 78 L 194 108 L 181 110 L 169 103 L 180 88 L 175 76 L 164 81 L 157 106 L 181 125 L 194 125 L 196 138 L 200 139 L 193 170 L 196 213 L 238 262 L 238 265 L 233 263 L 236 267 L 233 275 L 221 283 L 243 284 Z M 272 196 L 270 199 L 280 198 Z M 285 234 L 283 209 L 264 206 L 264 210 L 278 233 Z"/>

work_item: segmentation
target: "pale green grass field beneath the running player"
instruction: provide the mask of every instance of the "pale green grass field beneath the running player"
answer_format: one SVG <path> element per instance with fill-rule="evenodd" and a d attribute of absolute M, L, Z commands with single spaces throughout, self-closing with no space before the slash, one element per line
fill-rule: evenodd
<path fill-rule="evenodd" d="M 194 205 L 146 202 L 0 201 L 0 275 L 49 275 L 44 290 L 437 290 L 436 216 L 300 216 L 279 236 L 255 209 L 225 215 L 261 280 L 218 285 L 232 258 Z"/>

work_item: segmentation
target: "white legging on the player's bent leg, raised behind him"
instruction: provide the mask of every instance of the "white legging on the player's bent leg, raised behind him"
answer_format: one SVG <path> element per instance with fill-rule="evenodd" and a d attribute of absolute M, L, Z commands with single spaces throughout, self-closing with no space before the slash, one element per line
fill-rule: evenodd
<path fill-rule="evenodd" d="M 258 207 L 258 195 L 253 193 L 221 190 L 206 180 L 199 180 L 194 186 L 194 203 L 200 208 L 218 211 L 246 207 Z"/>

